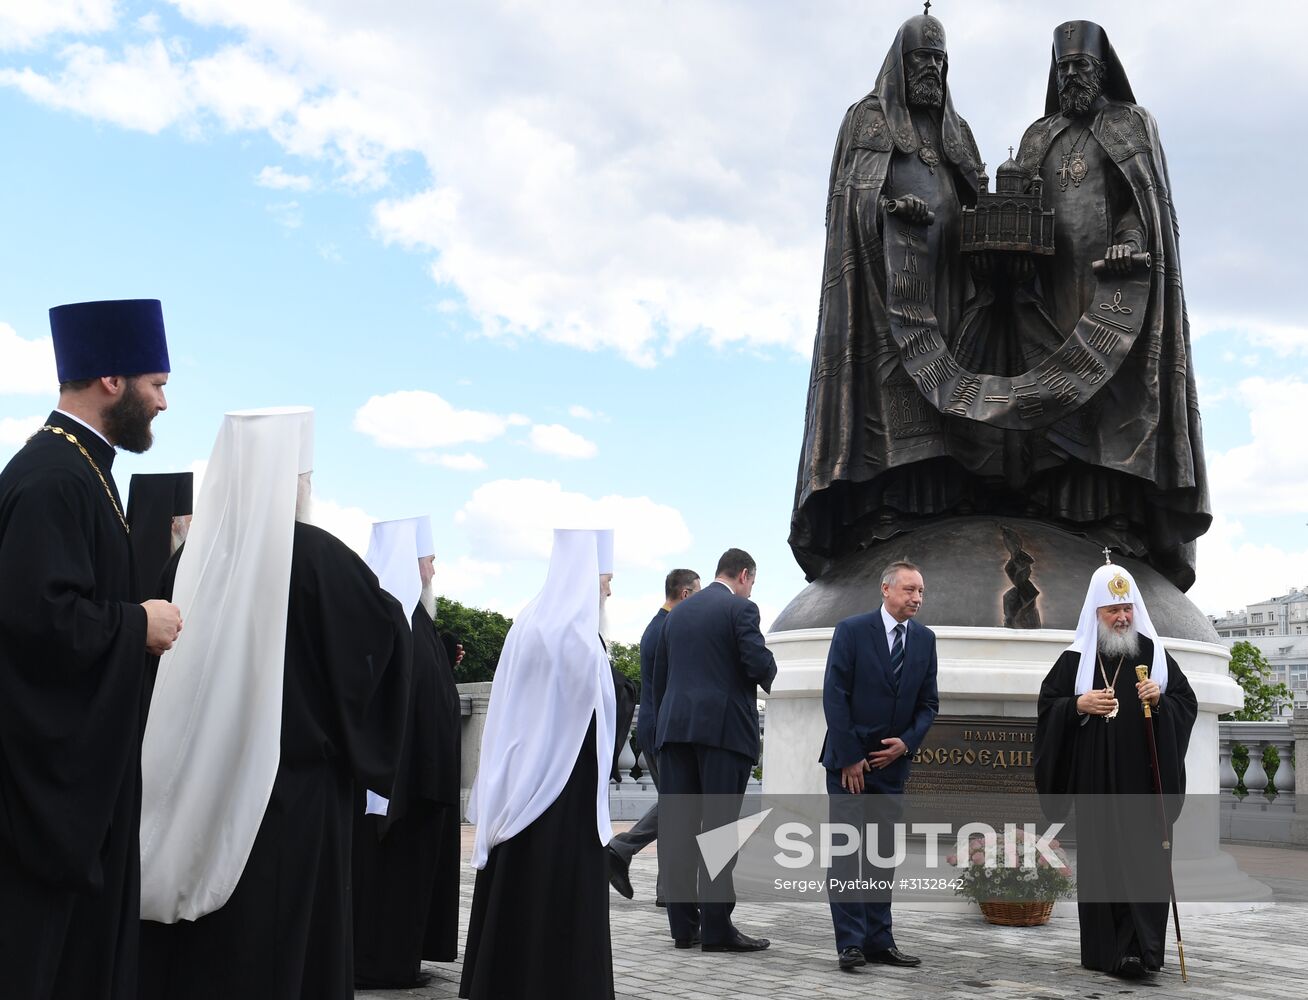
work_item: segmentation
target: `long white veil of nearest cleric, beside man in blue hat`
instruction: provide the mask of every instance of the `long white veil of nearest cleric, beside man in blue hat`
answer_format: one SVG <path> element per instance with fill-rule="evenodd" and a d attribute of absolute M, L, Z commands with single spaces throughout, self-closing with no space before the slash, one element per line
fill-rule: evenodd
<path fill-rule="evenodd" d="M 281 757 L 297 473 L 313 410 L 228 413 L 195 502 L 141 748 L 141 916 L 220 908 L 245 871 Z"/>

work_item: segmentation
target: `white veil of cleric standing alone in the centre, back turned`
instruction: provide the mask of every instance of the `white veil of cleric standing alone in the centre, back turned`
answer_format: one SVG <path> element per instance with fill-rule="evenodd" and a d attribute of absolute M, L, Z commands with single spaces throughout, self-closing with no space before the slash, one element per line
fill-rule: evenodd
<path fill-rule="evenodd" d="M 545 586 L 509 629 L 496 667 L 481 736 L 477 778 L 468 796 L 476 824 L 472 867 L 548 809 L 572 775 L 595 716 L 595 827 L 608 818 L 617 703 L 608 654 L 599 641 L 598 532 L 556 529 Z"/>

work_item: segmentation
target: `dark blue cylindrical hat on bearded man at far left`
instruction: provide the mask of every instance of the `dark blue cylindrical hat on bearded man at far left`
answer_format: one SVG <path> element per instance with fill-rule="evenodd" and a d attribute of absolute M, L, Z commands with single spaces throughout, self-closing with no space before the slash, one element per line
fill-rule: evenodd
<path fill-rule="evenodd" d="M 73 302 L 50 310 L 59 383 L 171 371 L 157 298 Z"/>

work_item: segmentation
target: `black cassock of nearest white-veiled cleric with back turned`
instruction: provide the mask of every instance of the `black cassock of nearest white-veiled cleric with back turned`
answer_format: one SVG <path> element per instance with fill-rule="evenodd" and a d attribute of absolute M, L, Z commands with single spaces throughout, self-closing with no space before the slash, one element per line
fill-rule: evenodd
<path fill-rule="evenodd" d="M 177 558 L 165 571 L 171 591 Z M 349 1000 L 356 782 L 387 793 L 409 626 L 341 541 L 296 524 L 281 758 L 237 888 L 199 920 L 141 923 L 141 1000 Z"/>

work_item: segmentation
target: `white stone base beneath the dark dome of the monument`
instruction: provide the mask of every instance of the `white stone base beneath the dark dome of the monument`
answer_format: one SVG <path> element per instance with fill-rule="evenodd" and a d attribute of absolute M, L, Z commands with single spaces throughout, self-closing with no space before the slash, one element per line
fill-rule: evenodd
<path fill-rule="evenodd" d="M 940 715 L 1032 720 L 1040 682 L 1073 633 L 1061 629 L 986 629 L 937 626 L 937 682 Z M 774 631 L 768 647 L 777 659 L 777 678 L 768 701 L 763 748 L 765 795 L 825 795 L 825 771 L 818 762 L 827 722 L 821 707 L 823 676 L 832 629 Z M 1199 715 L 1185 758 L 1186 790 L 1216 796 L 1218 715 L 1244 703 L 1244 693 L 1227 672 L 1230 651 L 1218 643 L 1164 639 L 1168 652 L 1185 671 L 1199 702 Z M 1218 818 L 1199 842 L 1176 844 L 1177 882 L 1205 903 L 1188 903 L 1188 912 L 1248 908 L 1271 899 L 1271 890 L 1244 875 L 1219 847 Z M 1185 876 L 1182 878 L 1182 875 Z M 1223 902 L 1227 901 L 1227 902 Z M 922 903 L 922 906 L 954 903 Z M 959 908 L 971 906 L 959 901 Z M 1061 906 L 1059 911 L 1075 912 Z"/>

